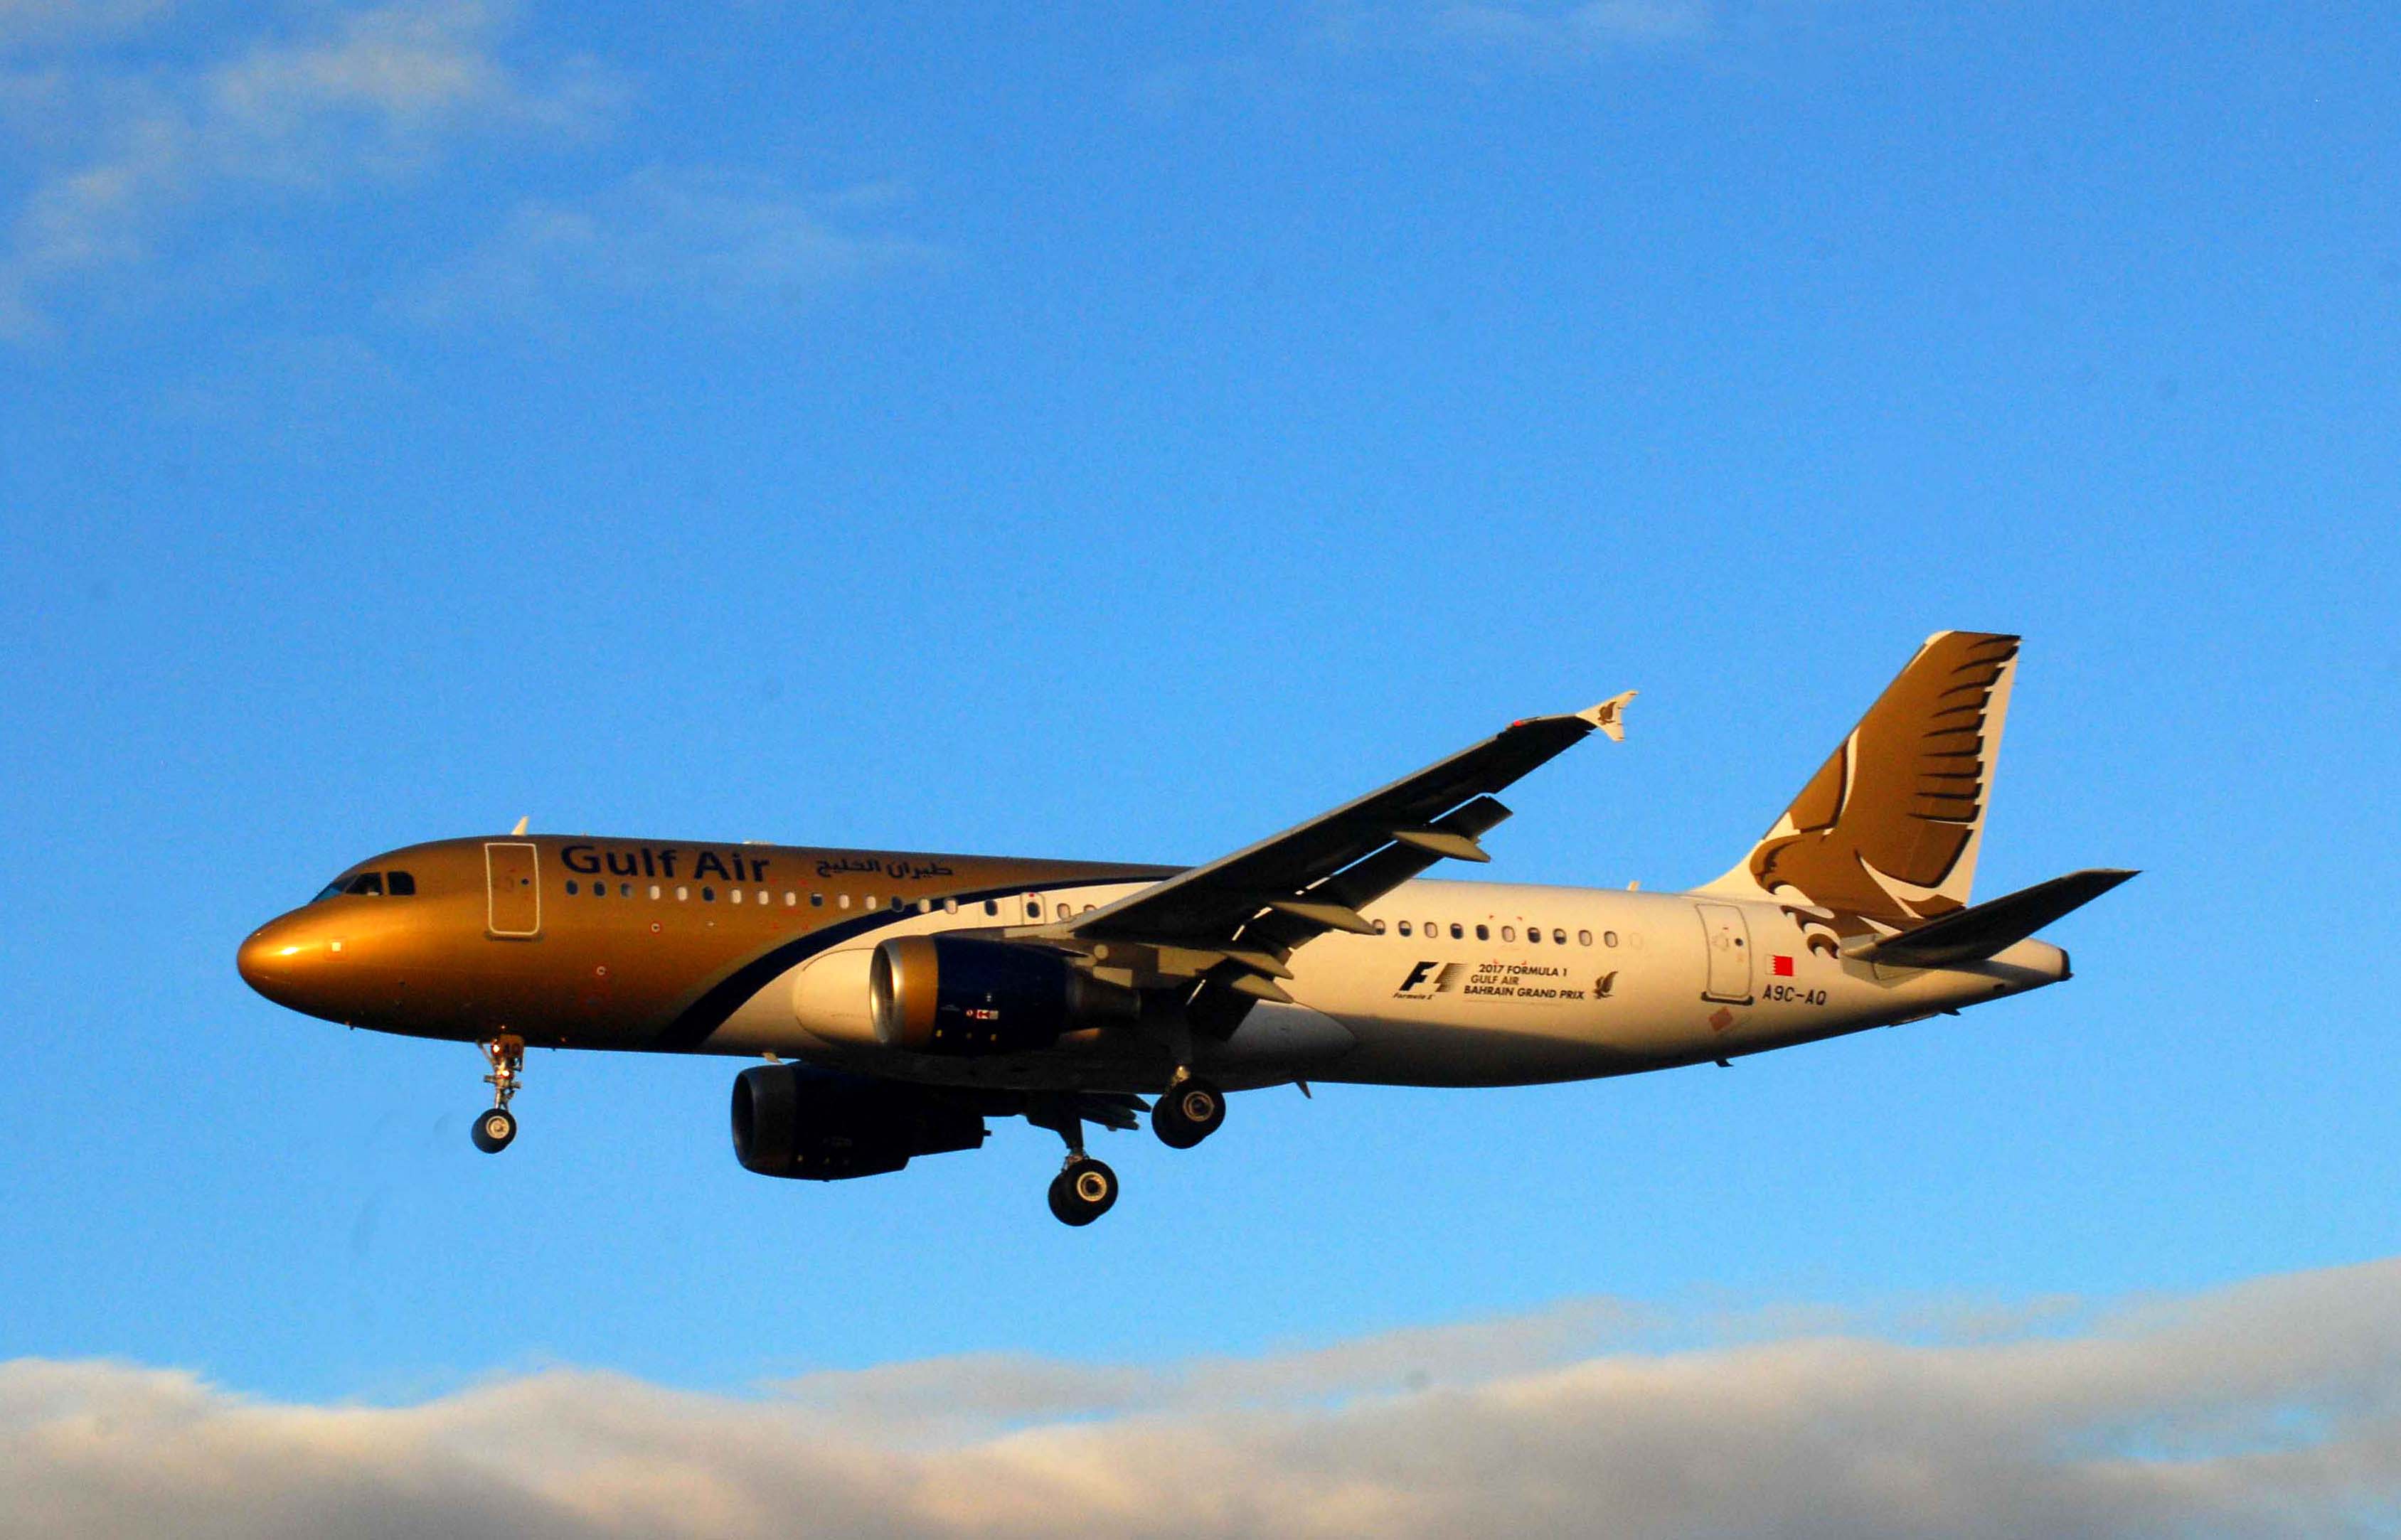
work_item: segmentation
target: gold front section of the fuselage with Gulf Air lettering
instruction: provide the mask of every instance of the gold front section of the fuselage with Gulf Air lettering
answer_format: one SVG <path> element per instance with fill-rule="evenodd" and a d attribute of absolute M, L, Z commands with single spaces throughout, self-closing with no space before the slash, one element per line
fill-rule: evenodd
<path fill-rule="evenodd" d="M 504 890 L 492 852 L 528 847 L 528 892 Z M 1023 926 L 1042 919 L 1035 904 L 1054 912 L 1080 888 L 1174 868 L 521 835 L 411 844 L 336 885 L 394 871 L 415 892 L 329 892 L 259 926 L 238 955 L 243 979 L 279 1005 L 377 1031 L 706 1053 L 708 1034 L 778 974 L 896 914 Z"/>

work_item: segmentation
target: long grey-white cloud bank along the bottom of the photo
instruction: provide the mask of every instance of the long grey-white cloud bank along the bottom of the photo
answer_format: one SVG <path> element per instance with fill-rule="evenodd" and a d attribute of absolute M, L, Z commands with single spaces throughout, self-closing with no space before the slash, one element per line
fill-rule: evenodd
<path fill-rule="evenodd" d="M 1167 1370 L 948 1360 L 764 1396 L 550 1372 L 399 1408 L 19 1360 L 0 1535 L 2389 1533 L 2396 1300 L 2379 1262 L 2072 1331 L 2046 1307 L 2005 1341 L 1561 1360 L 1640 1324 L 1599 1305 Z M 1424 1360 L 1448 1370 L 1393 1382 Z"/>

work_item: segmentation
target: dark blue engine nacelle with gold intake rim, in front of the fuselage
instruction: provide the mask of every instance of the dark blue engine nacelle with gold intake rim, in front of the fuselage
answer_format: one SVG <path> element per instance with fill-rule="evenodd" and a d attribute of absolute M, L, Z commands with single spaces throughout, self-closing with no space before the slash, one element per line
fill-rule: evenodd
<path fill-rule="evenodd" d="M 1023 1053 L 1061 1031 L 1133 1022 L 1143 998 L 1064 955 L 975 936 L 896 936 L 867 969 L 876 1041 L 910 1053 Z"/>

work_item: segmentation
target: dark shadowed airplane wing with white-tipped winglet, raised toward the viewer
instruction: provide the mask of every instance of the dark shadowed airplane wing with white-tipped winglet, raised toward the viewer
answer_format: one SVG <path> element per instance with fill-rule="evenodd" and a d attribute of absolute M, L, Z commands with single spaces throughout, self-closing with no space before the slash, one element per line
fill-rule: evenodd
<path fill-rule="evenodd" d="M 1328 931 L 1373 931 L 1361 904 L 1445 856 L 1489 861 L 1477 835 L 1508 818 L 1491 794 L 1589 732 L 1623 739 L 1633 696 L 1510 722 L 1481 744 L 1232 856 L 1073 921 L 1013 933 L 1083 952 L 1095 976 L 1116 983 L 1188 983 L 1191 1022 L 1227 1034 L 1253 1000 L 1292 998 L 1275 981 L 1292 976 L 1294 948 Z"/>

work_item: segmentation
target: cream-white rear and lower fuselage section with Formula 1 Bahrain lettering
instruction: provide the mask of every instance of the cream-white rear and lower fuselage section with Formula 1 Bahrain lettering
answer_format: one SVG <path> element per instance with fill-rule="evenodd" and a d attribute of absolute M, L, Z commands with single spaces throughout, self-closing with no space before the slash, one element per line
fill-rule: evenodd
<path fill-rule="evenodd" d="M 1080 885 L 1044 900 L 1083 909 L 1138 888 Z M 1364 914 L 1381 933 L 1330 933 L 1299 948 L 1282 981 L 1292 1005 L 1258 1003 L 1232 1039 L 1196 1039 L 1191 1067 L 1227 1089 L 1592 1079 L 1887 1027 L 2067 976 L 2067 955 L 2041 940 L 1954 969 L 1846 962 L 1822 926 L 1810 945 L 1806 912 L 1707 892 L 1414 880 Z M 1174 1072 L 1169 1034 L 1126 1027 L 982 1058 L 874 1043 L 862 988 L 872 948 L 989 926 L 939 909 L 893 916 L 761 988 L 703 1051 L 1023 1089 L 1155 1091 Z"/>

